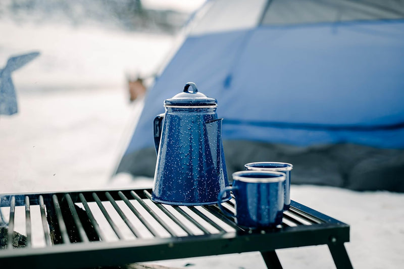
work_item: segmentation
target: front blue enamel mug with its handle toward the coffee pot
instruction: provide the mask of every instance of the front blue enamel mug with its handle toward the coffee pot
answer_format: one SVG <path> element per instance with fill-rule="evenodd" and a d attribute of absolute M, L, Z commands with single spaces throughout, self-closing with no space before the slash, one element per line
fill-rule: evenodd
<path fill-rule="evenodd" d="M 285 174 L 281 172 L 235 172 L 233 185 L 226 187 L 218 196 L 219 207 L 240 226 L 251 229 L 275 227 L 282 223 L 285 179 Z M 220 203 L 230 191 L 236 201 L 234 215 Z"/>

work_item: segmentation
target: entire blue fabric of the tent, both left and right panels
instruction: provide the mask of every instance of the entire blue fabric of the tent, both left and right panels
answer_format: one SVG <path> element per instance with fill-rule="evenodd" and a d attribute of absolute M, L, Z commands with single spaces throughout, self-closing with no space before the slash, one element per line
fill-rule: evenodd
<path fill-rule="evenodd" d="M 224 139 L 404 148 L 402 77 L 404 20 L 190 37 L 148 91 L 126 152 L 153 145 L 151 122 L 189 80 L 218 99 Z"/>

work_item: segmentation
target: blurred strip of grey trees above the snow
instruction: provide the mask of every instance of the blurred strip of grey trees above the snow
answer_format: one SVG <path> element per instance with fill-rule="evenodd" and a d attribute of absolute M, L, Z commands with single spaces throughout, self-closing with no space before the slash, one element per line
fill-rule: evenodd
<path fill-rule="evenodd" d="M 19 23 L 57 20 L 78 26 L 95 22 L 128 31 L 174 33 L 189 14 L 145 9 L 141 0 L 2 0 L 0 16 Z"/>

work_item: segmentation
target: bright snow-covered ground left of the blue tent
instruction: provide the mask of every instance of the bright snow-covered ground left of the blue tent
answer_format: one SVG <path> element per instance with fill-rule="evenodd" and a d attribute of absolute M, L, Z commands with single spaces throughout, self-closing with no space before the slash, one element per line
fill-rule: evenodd
<path fill-rule="evenodd" d="M 0 68 L 11 55 L 41 53 L 12 74 L 19 113 L 0 115 L 2 192 L 77 189 L 83 178 L 103 186 L 139 106 L 125 73 L 155 72 L 173 37 L 10 21 L 0 36 Z"/>

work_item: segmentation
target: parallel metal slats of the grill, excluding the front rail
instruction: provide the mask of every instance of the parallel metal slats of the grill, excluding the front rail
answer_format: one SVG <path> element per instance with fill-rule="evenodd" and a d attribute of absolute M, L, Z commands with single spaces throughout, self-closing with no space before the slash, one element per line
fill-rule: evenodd
<path fill-rule="evenodd" d="M 1 206 L 4 214 L 7 213 L 5 207 L 9 207 L 9 238 L 13 236 L 16 222 L 25 222 L 27 247 L 33 247 L 32 233 L 38 232 L 38 230 L 32 231 L 31 222 L 31 218 L 34 217 L 31 207 L 37 205 L 40 210 L 39 212 L 36 210 L 35 213 L 40 213 L 41 233 L 45 246 L 89 241 L 108 242 L 112 240 L 111 236 L 109 238 L 105 235 L 108 228 L 114 232 L 118 240 L 125 240 L 123 229 L 129 229 L 135 239 L 150 238 L 150 235 L 151 238 L 167 237 L 164 236 L 164 232 L 162 236 L 162 230 L 171 237 L 180 237 L 181 234 L 210 235 L 245 230 L 224 216 L 217 205 L 171 206 L 150 204 L 149 199 L 150 190 L 79 192 L 72 195 L 29 194 L 3 196 Z M 106 203 L 110 205 L 108 209 Z M 16 218 L 16 206 L 25 207 L 25 218 L 22 216 Z M 140 212 L 139 207 L 144 209 L 143 212 Z M 234 211 L 234 199 L 228 201 L 225 207 L 230 212 Z M 112 214 L 118 214 L 121 221 L 114 219 Z M 133 219 L 141 223 L 142 231 L 139 230 L 138 224 L 131 221 Z M 99 222 L 107 222 L 109 227 L 105 225 L 100 227 Z M 284 212 L 282 227 L 321 223 L 324 221 L 291 207 Z M 148 233 L 145 233 L 145 229 Z M 7 248 L 12 248 L 12 240 L 9 240 Z"/>

